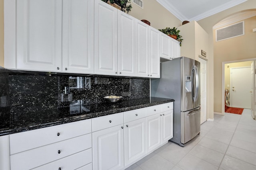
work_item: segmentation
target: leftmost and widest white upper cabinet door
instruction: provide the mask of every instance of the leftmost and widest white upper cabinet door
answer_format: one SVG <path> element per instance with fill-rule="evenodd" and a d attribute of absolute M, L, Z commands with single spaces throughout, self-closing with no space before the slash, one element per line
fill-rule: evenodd
<path fill-rule="evenodd" d="M 16 45 L 18 69 L 60 71 L 62 0 L 17 0 Z"/>

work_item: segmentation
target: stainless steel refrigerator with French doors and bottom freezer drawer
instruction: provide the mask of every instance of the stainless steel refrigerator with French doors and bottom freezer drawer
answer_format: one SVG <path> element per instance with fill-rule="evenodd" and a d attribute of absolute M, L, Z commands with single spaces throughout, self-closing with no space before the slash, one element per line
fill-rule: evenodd
<path fill-rule="evenodd" d="M 200 63 L 180 57 L 160 64 L 160 78 L 151 79 L 151 96 L 172 98 L 174 136 L 184 146 L 200 133 Z"/>

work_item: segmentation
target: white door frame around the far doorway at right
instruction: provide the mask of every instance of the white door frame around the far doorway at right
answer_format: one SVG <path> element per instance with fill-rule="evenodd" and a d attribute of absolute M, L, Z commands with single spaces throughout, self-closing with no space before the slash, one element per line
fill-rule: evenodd
<path fill-rule="evenodd" d="M 228 63 L 238 63 L 238 62 L 243 62 L 243 61 L 256 61 L 256 58 L 251 58 L 251 59 L 242 59 L 242 60 L 234 60 L 234 61 L 223 61 L 222 62 L 222 99 L 221 99 L 221 115 L 225 115 L 225 64 Z"/>

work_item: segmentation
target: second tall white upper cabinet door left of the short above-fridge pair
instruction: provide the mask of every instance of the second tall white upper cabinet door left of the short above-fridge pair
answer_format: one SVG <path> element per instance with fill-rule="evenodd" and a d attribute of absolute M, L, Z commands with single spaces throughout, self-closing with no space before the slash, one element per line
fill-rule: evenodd
<path fill-rule="evenodd" d="M 136 76 L 149 77 L 149 25 L 140 20 L 135 20 L 135 45 L 136 45 Z"/>

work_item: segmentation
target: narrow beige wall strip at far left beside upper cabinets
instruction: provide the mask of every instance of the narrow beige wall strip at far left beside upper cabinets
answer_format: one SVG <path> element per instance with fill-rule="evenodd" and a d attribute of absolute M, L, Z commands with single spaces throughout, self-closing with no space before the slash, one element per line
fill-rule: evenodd
<path fill-rule="evenodd" d="M 0 66 L 4 66 L 4 0 L 0 0 Z"/>

